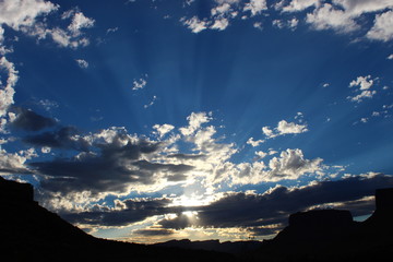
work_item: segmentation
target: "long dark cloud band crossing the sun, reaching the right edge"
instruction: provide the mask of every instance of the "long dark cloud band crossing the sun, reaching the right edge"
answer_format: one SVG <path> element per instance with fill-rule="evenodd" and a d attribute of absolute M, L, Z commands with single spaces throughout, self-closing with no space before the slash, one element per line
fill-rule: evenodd
<path fill-rule="evenodd" d="M 122 226 L 153 215 L 177 214 L 176 218 L 162 219 L 165 229 L 196 227 L 245 227 L 257 235 L 274 234 L 282 229 L 289 214 L 315 205 L 336 203 L 354 215 L 370 214 L 374 204 L 365 196 L 378 188 L 393 187 L 393 176 L 349 177 L 337 181 L 320 181 L 301 188 L 276 187 L 263 194 L 231 192 L 206 206 L 168 206 L 170 199 L 151 201 L 128 200 L 123 209 L 105 212 L 71 214 L 73 222 L 82 224 Z M 194 211 L 196 217 L 184 214 Z"/>

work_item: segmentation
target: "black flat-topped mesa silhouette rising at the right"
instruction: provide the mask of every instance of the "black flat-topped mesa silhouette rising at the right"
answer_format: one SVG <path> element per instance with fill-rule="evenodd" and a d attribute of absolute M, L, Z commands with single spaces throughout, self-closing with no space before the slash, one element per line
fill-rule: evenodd
<path fill-rule="evenodd" d="M 393 257 L 393 189 L 376 191 L 373 214 L 354 222 L 348 211 L 314 210 L 289 216 L 289 225 L 264 241 L 264 261 L 390 261 Z"/>

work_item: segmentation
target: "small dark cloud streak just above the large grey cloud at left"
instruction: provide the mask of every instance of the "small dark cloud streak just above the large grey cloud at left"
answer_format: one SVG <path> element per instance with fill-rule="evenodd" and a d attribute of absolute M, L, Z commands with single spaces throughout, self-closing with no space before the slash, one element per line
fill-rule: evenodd
<path fill-rule="evenodd" d="M 48 131 L 23 139 L 25 143 L 34 146 L 49 146 L 53 148 L 88 151 L 90 143 L 80 136 L 74 127 L 61 127 L 55 131 Z"/>

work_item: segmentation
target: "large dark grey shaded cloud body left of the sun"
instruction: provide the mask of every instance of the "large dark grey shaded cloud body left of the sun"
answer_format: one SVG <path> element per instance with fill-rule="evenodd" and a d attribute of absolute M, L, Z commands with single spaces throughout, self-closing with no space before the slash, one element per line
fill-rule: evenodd
<path fill-rule="evenodd" d="M 83 141 L 70 139 L 72 133 L 64 131 L 63 135 L 58 136 L 48 133 L 40 138 L 35 136 L 34 142 L 38 144 L 43 140 L 47 146 L 61 146 L 61 143 L 56 144 L 59 141 L 75 142 L 79 146 L 84 145 L 85 142 L 87 151 L 87 142 L 83 139 L 81 139 Z M 82 152 L 72 158 L 36 162 L 31 163 L 29 166 L 37 172 L 49 176 L 41 181 L 41 187 L 46 190 L 64 193 L 91 191 L 93 194 L 108 191 L 123 193 L 131 184 L 135 187 L 154 184 L 157 182 L 158 172 L 163 172 L 164 178 L 169 181 L 184 180 L 187 179 L 184 172 L 193 168 L 188 165 L 141 160 L 142 155 L 158 151 L 160 144 L 144 140 L 124 143 L 124 140 L 120 140 L 119 136 L 110 143 L 95 143 L 88 148 L 91 152 Z"/>

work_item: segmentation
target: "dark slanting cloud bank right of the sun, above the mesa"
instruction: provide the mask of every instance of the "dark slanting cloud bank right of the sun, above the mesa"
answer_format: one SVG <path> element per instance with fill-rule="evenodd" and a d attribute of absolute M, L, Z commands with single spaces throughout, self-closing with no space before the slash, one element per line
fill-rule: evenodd
<path fill-rule="evenodd" d="M 289 214 L 327 203 L 341 203 L 341 209 L 349 209 L 354 215 L 366 215 L 373 211 L 374 205 L 360 199 L 373 195 L 378 188 L 392 186 L 392 176 L 378 175 L 321 181 L 294 189 L 277 187 L 263 194 L 227 193 L 207 206 L 195 209 L 199 219 L 181 215 L 172 219 L 163 219 L 159 224 L 164 228 L 175 229 L 192 225 L 203 227 L 284 225 Z"/>

